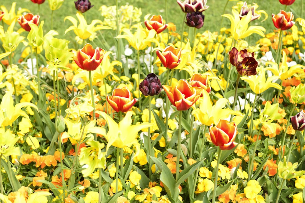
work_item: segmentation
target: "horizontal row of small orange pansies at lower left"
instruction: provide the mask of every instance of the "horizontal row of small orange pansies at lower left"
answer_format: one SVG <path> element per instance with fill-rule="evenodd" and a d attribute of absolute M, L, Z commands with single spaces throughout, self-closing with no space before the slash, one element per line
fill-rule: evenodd
<path fill-rule="evenodd" d="M 62 157 L 64 159 L 65 154 L 62 152 Z M 47 155 L 47 156 L 39 156 L 36 154 L 23 154 L 20 159 L 19 163 L 22 165 L 28 165 L 30 162 L 35 162 L 36 167 L 40 167 L 43 169 L 45 166 L 56 166 L 57 161 L 60 161 L 60 153 L 56 151 L 54 155 Z"/>

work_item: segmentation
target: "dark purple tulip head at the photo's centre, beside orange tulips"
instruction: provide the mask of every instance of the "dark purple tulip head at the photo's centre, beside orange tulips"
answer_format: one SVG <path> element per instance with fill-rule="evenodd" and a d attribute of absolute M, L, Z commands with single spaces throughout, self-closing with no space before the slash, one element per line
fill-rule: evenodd
<path fill-rule="evenodd" d="M 161 92 L 162 86 L 160 79 L 154 73 L 149 73 L 147 77 L 140 83 L 139 89 L 144 96 L 154 96 Z"/>

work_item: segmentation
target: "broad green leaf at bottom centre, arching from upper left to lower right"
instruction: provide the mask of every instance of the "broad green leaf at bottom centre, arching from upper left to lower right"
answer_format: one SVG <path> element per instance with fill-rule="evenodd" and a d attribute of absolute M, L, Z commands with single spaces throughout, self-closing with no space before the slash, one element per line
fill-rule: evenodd
<path fill-rule="evenodd" d="M 170 201 L 178 202 L 179 190 L 178 187 L 175 187 L 175 179 L 173 174 L 170 172 L 170 169 L 160 159 L 152 156 L 150 156 L 150 158 L 160 170 L 160 181 L 162 181 Z"/>

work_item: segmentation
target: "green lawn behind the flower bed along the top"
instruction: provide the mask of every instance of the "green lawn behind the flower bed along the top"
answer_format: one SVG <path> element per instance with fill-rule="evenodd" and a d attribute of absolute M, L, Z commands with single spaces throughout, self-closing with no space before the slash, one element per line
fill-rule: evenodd
<path fill-rule="evenodd" d="M 7 9 L 10 9 L 12 0 L 1 1 L 1 5 L 4 5 Z M 18 8 L 27 8 L 32 13 L 38 13 L 38 5 L 34 4 L 30 0 L 16 0 L 16 10 Z M 98 4 L 100 1 L 91 0 L 91 5 L 94 5 L 88 12 L 85 12 L 85 17 L 87 22 L 90 23 L 93 19 L 101 19 L 101 12 L 99 8 L 101 4 Z M 113 0 L 103 0 L 104 5 L 111 6 L 115 4 Z M 128 0 L 128 1 L 119 1 L 119 5 L 134 5 L 135 7 L 142 8 L 142 21 L 144 21 L 144 16 L 147 13 L 162 15 L 164 19 L 165 16 L 165 0 Z M 248 4 L 252 4 L 253 2 L 257 2 L 259 5 L 258 10 L 264 10 L 269 15 L 268 19 L 264 22 L 261 22 L 264 19 L 264 16 L 260 20 L 254 21 L 252 25 L 260 25 L 266 28 L 266 33 L 272 32 L 274 29 L 274 25 L 271 20 L 272 13 L 278 13 L 280 9 L 285 10 L 285 5 L 280 4 L 277 0 L 266 1 L 266 0 L 257 0 L 257 1 L 247 1 Z M 220 28 L 221 22 L 221 14 L 223 14 L 224 5 L 227 3 L 226 0 L 208 0 L 207 5 L 210 6 L 208 10 L 204 12 L 205 14 L 205 22 L 204 26 L 198 30 L 198 32 L 204 32 L 205 30 L 210 31 L 218 31 Z M 231 13 L 232 6 L 236 5 L 237 1 L 229 1 L 226 7 L 225 13 Z M 168 10 L 168 22 L 173 22 L 177 26 L 177 32 L 181 33 L 182 23 L 184 21 L 184 13 L 181 12 L 179 5 L 176 0 L 167 0 L 167 10 Z M 288 6 L 286 11 L 292 10 L 295 18 L 300 17 L 301 7 L 295 2 L 293 5 Z M 64 35 L 65 30 L 72 25 L 70 21 L 66 20 L 64 22 L 64 18 L 66 16 L 74 16 L 76 13 L 75 5 L 73 0 L 64 1 L 62 7 L 56 11 L 54 11 L 54 20 L 53 20 L 53 30 L 56 30 L 59 33 L 59 38 L 66 38 L 68 40 L 74 39 L 74 33 L 71 31 Z M 45 32 L 51 29 L 51 10 L 48 6 L 48 0 L 45 3 L 40 5 L 40 16 L 41 20 L 45 21 L 44 29 Z M 230 27 L 230 21 L 226 18 L 223 19 L 223 26 Z M 16 24 L 16 27 L 19 28 L 19 25 Z"/>

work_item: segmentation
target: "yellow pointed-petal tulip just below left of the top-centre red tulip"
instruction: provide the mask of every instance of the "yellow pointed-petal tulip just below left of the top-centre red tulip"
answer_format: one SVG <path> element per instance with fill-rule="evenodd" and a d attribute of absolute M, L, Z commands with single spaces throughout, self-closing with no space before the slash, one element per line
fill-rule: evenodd
<path fill-rule="evenodd" d="M 159 41 L 155 38 L 156 30 L 147 31 L 146 28 L 143 28 L 141 23 L 136 25 L 137 30 L 135 33 L 131 33 L 130 29 L 123 29 L 122 31 L 125 33 L 124 35 L 118 35 L 117 38 L 124 38 L 128 41 L 128 43 L 134 47 L 136 50 L 143 50 L 152 42 L 156 43 L 158 46 L 160 45 Z"/>

